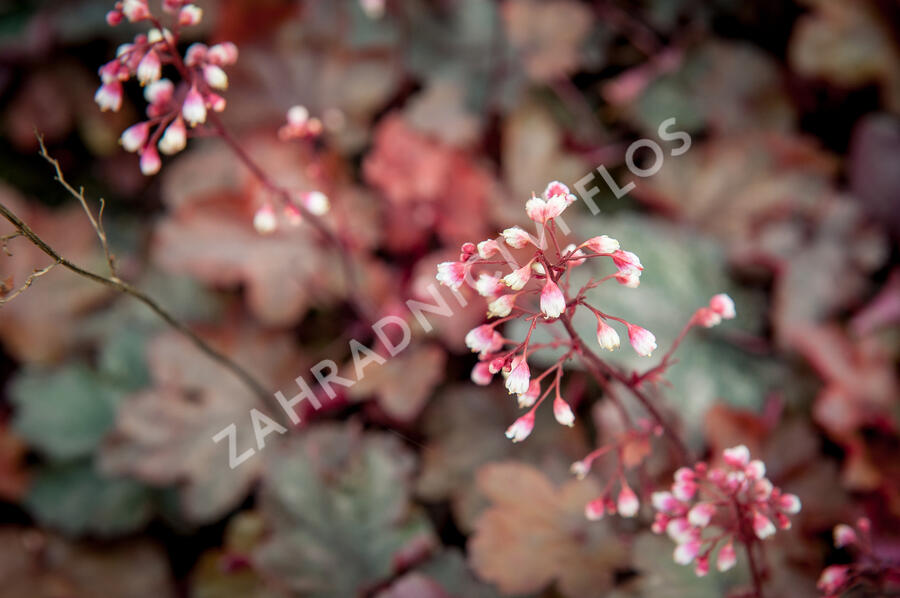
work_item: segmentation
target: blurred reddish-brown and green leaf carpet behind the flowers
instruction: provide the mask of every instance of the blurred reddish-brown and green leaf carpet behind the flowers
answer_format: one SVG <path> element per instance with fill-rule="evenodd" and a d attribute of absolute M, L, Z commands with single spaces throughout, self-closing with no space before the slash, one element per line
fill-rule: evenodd
<path fill-rule="evenodd" d="M 621 239 L 646 270 L 599 304 L 663 348 L 712 294 L 738 304 L 733 325 L 685 343 L 661 390 L 696 451 L 744 442 L 803 499 L 767 553 L 773 595 L 815 596 L 823 563 L 846 556 L 828 532 L 855 515 L 875 522 L 878 551 L 900 554 L 900 5 L 198 4 L 191 35 L 240 47 L 226 122 L 278 181 L 329 195 L 373 312 L 408 315 L 403 301 L 429 296 L 461 242 L 522 223 L 547 181 L 603 165 L 636 187 L 616 199 L 595 178 L 600 214 L 579 202 L 567 222 Z M 367 333 L 338 257 L 305 226 L 258 235 L 265 191 L 227 148 L 192 140 L 146 178 L 118 146 L 142 102 L 136 86 L 119 113 L 93 102 L 96 69 L 135 33 L 107 27 L 109 8 L 0 6 L 0 201 L 66 257 L 104 267 L 37 129 L 69 180 L 106 199 L 123 278 L 273 392 L 323 358 L 352 367 L 347 342 Z M 320 140 L 277 141 L 294 104 L 323 120 Z M 690 150 L 630 174 L 628 145 L 671 117 Z M 46 265 L 21 240 L 9 249 L 4 290 Z M 468 382 L 476 303 L 415 329 L 405 352 L 232 471 L 210 438 L 234 422 L 249 443 L 254 397 L 129 298 L 59 269 L 41 277 L 0 309 L 3 595 L 696 597 L 744 583 L 696 579 L 633 521 L 584 519 L 599 480 L 567 467 L 609 418 L 577 372 L 575 428 L 503 438 L 511 399 Z M 612 358 L 635 365 L 627 353 Z"/>

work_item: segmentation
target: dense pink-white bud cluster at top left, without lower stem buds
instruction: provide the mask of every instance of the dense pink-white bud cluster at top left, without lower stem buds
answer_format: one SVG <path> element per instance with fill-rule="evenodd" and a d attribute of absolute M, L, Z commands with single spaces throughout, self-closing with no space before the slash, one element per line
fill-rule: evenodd
<path fill-rule="evenodd" d="M 144 87 L 147 120 L 128 127 L 120 142 L 126 151 L 140 155 L 141 172 L 148 176 L 159 172 L 160 153 L 183 150 L 189 128 L 205 123 L 210 110 L 225 109 L 225 98 L 217 93 L 228 87 L 223 67 L 234 64 L 238 55 L 237 46 L 223 42 L 211 47 L 193 44 L 182 57 L 177 49 L 180 29 L 199 23 L 203 11 L 183 0 L 164 0 L 162 7 L 171 15 L 170 27 L 160 24 L 147 0 L 122 0 L 107 13 L 110 25 L 128 20 L 149 21 L 154 27 L 119 46 L 115 59 L 100 67 L 101 85 L 94 95 L 101 110 L 115 112 L 122 107 L 124 82 L 134 77 Z M 180 74 L 178 85 L 163 78 L 166 67 Z"/>

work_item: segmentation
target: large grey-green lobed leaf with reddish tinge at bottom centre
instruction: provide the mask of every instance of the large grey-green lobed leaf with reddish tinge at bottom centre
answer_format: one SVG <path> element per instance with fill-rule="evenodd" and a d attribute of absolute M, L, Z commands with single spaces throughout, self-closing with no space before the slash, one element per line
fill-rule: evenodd
<path fill-rule="evenodd" d="M 356 596 L 388 578 L 411 541 L 432 543 L 411 508 L 413 455 L 397 438 L 319 426 L 273 447 L 262 490 L 269 576 L 307 598 Z"/>

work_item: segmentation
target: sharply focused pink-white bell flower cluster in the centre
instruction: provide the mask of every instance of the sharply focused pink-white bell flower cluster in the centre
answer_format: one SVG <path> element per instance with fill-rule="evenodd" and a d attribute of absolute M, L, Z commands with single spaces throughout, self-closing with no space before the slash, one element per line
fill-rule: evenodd
<path fill-rule="evenodd" d="M 574 343 L 580 341 L 556 343 L 556 347 L 568 346 L 571 351 L 542 374 L 533 376 L 527 358 L 532 332 L 538 325 L 568 321 L 575 310 L 584 308 L 597 315 L 597 342 L 601 348 L 614 350 L 619 346 L 618 332 L 609 323 L 613 322 L 625 327 L 628 340 L 638 354 L 649 356 L 656 349 L 656 338 L 649 330 L 587 303 L 585 292 L 602 282 L 615 280 L 626 287 L 638 286 L 644 266 L 637 255 L 623 250 L 617 240 L 607 235 L 590 238 L 580 245 L 561 242 L 556 219 L 574 201 L 575 196 L 566 185 L 553 181 L 540 197 L 532 195 L 525 203 L 525 214 L 536 225 L 537 237 L 512 226 L 494 239 L 464 243 L 458 260 L 437 266 L 436 279 L 441 284 L 454 290 L 467 284 L 484 297 L 487 317 L 498 318 L 492 324 L 471 330 L 466 335 L 466 344 L 479 357 L 472 370 L 472 381 L 487 385 L 495 374 L 502 373 L 506 389 L 517 396 L 519 406 L 530 408 L 507 430 L 507 436 L 514 442 L 524 440 L 531 433 L 534 411 L 551 392 L 556 420 L 565 426 L 572 426 L 575 421 L 570 405 L 562 398 L 560 379 L 563 363 L 576 352 Z M 528 255 L 524 261 L 517 261 L 512 251 L 528 252 Z M 574 268 L 600 261 L 611 263 L 615 271 L 602 279 L 591 279 L 580 291 L 570 288 L 569 274 Z M 498 264 L 508 266 L 510 271 L 498 272 Z M 509 340 L 497 330 L 500 324 L 512 319 L 529 324 L 523 342 Z M 541 380 L 551 373 L 556 374 L 548 379 L 552 382 L 542 388 Z"/>

